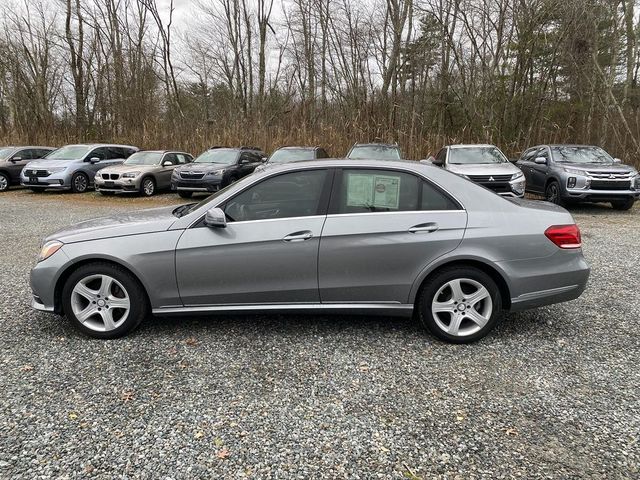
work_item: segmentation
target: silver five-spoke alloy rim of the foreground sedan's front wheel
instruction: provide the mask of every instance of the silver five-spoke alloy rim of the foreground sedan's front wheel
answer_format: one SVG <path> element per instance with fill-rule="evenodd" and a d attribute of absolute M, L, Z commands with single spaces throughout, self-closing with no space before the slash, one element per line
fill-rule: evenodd
<path fill-rule="evenodd" d="M 76 283 L 71 292 L 71 309 L 86 328 L 109 332 L 127 319 L 131 300 L 124 286 L 109 275 L 89 275 Z"/>

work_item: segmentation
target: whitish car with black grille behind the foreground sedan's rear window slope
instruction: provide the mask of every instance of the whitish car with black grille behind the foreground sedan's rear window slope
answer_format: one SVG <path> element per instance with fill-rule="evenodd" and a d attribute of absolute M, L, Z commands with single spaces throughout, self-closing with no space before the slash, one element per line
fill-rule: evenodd
<path fill-rule="evenodd" d="M 524 196 L 524 174 L 495 145 L 449 145 L 431 161 L 499 195 Z"/>

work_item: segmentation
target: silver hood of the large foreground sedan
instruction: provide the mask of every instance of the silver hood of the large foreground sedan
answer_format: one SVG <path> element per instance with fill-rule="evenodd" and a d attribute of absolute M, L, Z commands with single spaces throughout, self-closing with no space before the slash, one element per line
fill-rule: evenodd
<path fill-rule="evenodd" d="M 171 227 L 176 221 L 176 217 L 171 213 L 175 209 L 176 206 L 174 205 L 87 220 L 49 235 L 45 238 L 45 242 L 59 240 L 62 243 L 75 243 L 102 238 L 162 232 Z"/>

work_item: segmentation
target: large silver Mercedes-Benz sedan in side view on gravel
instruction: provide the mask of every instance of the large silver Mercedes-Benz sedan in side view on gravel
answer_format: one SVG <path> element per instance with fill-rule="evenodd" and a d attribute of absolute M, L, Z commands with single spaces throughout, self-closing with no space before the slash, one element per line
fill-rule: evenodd
<path fill-rule="evenodd" d="M 274 166 L 200 203 L 47 237 L 34 308 L 113 338 L 150 313 L 416 314 L 441 339 L 503 311 L 577 298 L 589 267 L 571 215 L 416 162 Z"/>

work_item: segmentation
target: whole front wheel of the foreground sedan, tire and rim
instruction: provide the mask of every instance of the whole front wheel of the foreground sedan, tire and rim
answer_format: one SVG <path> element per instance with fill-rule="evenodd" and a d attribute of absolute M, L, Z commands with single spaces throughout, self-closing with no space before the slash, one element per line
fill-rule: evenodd
<path fill-rule="evenodd" d="M 82 265 L 69 276 L 62 307 L 82 333 L 105 339 L 126 335 L 149 313 L 140 282 L 124 268 L 104 262 Z"/>

